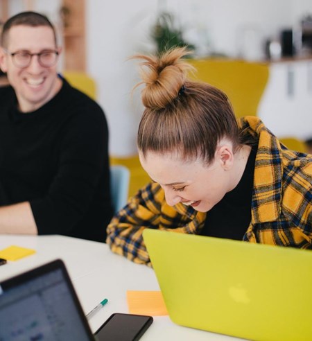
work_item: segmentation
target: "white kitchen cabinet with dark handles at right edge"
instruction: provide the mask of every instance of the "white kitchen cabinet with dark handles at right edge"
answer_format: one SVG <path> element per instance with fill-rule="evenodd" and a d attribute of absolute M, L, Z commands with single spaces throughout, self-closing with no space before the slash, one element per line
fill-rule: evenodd
<path fill-rule="evenodd" d="M 312 137 L 312 60 L 272 64 L 259 117 L 277 137 Z"/>

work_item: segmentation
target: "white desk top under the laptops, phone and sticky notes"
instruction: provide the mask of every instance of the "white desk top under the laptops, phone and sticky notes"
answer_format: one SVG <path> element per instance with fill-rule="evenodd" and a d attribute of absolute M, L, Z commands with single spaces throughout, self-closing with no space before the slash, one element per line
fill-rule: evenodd
<path fill-rule="evenodd" d="M 104 298 L 108 299 L 108 304 L 89 320 L 92 331 L 96 331 L 112 313 L 128 313 L 127 290 L 159 290 L 153 269 L 113 254 L 103 243 L 65 236 L 0 235 L 0 250 L 10 245 L 30 247 L 37 252 L 0 266 L 0 281 L 59 258 L 67 266 L 85 313 Z M 153 324 L 141 340 L 239 339 L 177 326 L 168 316 L 162 316 L 154 317 Z"/>

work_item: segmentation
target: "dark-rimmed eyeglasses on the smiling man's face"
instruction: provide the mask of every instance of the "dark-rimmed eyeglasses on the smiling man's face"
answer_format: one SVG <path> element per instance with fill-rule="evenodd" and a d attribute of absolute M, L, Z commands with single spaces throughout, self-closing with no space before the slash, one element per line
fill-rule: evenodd
<path fill-rule="evenodd" d="M 58 61 L 58 51 L 54 50 L 46 50 L 40 53 L 30 53 L 28 51 L 17 51 L 15 53 L 10 53 L 6 49 L 3 49 L 8 55 L 12 57 L 12 62 L 15 64 L 15 67 L 29 67 L 31 64 L 31 59 L 33 55 L 38 56 L 38 62 L 42 67 L 53 67 L 55 63 Z"/>

